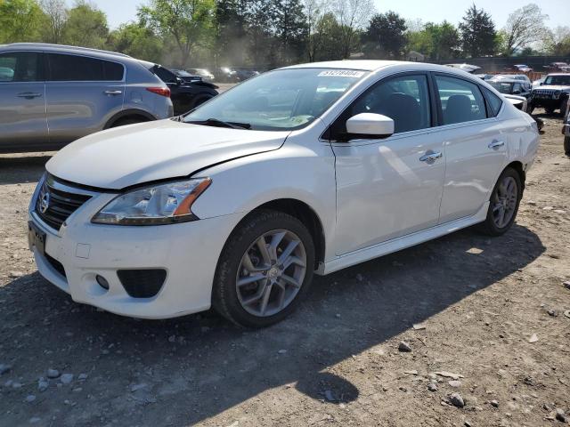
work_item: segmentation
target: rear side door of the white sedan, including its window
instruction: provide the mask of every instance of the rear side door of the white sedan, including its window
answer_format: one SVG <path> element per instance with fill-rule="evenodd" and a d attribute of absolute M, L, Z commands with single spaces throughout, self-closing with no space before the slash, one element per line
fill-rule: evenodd
<path fill-rule="evenodd" d="M 488 201 L 507 160 L 509 134 L 485 104 L 479 85 L 459 77 L 434 76 L 446 160 L 440 223 L 476 214 Z M 501 104 L 501 100 L 493 93 Z M 495 101 L 496 101 L 495 100 Z"/>

